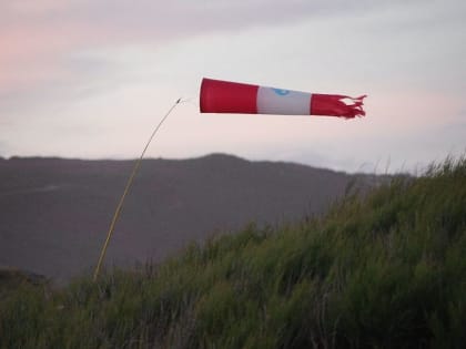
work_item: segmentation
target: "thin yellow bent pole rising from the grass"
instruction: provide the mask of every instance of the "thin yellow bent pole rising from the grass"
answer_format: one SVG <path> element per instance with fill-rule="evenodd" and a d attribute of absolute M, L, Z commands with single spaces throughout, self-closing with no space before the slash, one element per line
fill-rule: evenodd
<path fill-rule="evenodd" d="M 156 125 L 155 130 L 152 132 L 151 136 L 149 137 L 149 141 L 148 141 L 148 143 L 145 144 L 144 150 L 143 150 L 143 151 L 142 151 L 142 153 L 141 153 L 141 156 L 140 156 L 140 157 L 135 161 L 135 163 L 134 163 L 133 171 L 132 171 L 132 173 L 131 173 L 130 177 L 128 178 L 126 186 L 124 187 L 124 191 L 123 191 L 123 195 L 121 195 L 120 202 L 119 202 L 119 203 L 118 203 L 118 205 L 116 205 L 116 209 L 115 209 L 115 212 L 114 212 L 114 214 L 113 214 L 113 218 L 112 218 L 112 222 L 111 222 L 111 224 L 110 224 L 109 232 L 107 233 L 107 239 L 105 239 L 105 243 L 103 244 L 102 250 L 101 250 L 101 253 L 100 253 L 99 261 L 98 261 L 97 267 L 95 267 L 95 270 L 94 270 L 94 276 L 93 276 L 93 280 L 94 280 L 94 283 L 97 281 L 97 278 L 98 278 L 98 276 L 99 276 L 99 271 L 100 271 L 100 268 L 101 268 L 101 266 L 102 266 L 103 258 L 105 257 L 107 247 L 109 247 L 110 238 L 111 238 L 111 237 L 112 237 L 112 235 L 113 235 L 113 229 L 114 229 L 115 224 L 116 224 L 116 220 L 118 220 L 118 218 L 119 218 L 119 216 L 120 216 L 121 208 L 123 207 L 123 202 L 124 202 L 124 198 L 126 197 L 128 192 L 130 192 L 130 188 L 131 188 L 131 186 L 132 186 L 132 184 L 133 184 L 134 177 L 135 177 L 135 175 L 138 174 L 139 167 L 141 166 L 142 158 L 144 157 L 145 152 L 148 151 L 149 145 L 151 144 L 151 142 L 152 142 L 152 140 L 153 140 L 153 137 L 154 137 L 154 136 L 155 136 L 155 134 L 156 134 L 156 132 L 158 132 L 158 131 L 159 131 L 159 129 L 162 126 L 162 124 L 163 124 L 163 122 L 166 120 L 166 117 L 169 117 L 169 115 L 171 114 L 171 112 L 175 109 L 175 106 L 176 106 L 178 104 L 180 104 L 180 102 L 181 102 L 181 99 L 179 99 L 179 100 L 178 100 L 178 101 L 176 101 L 176 102 L 175 102 L 175 103 L 174 103 L 174 104 L 170 107 L 170 110 L 166 112 L 166 114 L 165 114 L 165 115 L 162 117 L 162 120 L 159 122 L 159 124 Z"/>

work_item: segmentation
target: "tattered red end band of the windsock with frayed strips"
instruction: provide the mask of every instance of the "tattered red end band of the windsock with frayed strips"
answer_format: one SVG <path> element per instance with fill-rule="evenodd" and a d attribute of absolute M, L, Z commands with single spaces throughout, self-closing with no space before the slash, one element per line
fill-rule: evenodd
<path fill-rule="evenodd" d="M 314 93 L 311 99 L 312 115 L 330 115 L 353 119 L 364 116 L 363 101 L 366 95 L 353 99 L 340 94 L 318 94 Z"/>

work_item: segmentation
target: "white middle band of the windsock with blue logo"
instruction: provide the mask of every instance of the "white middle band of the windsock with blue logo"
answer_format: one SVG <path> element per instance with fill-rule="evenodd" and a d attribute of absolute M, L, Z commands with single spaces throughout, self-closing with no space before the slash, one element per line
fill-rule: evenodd
<path fill-rule="evenodd" d="M 308 115 L 311 93 L 259 86 L 259 114 Z"/>

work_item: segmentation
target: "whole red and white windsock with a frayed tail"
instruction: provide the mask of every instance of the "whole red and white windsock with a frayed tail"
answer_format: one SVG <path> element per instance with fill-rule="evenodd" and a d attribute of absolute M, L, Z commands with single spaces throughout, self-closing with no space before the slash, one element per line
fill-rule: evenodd
<path fill-rule="evenodd" d="M 365 95 L 317 94 L 204 78 L 201 113 L 364 116 Z"/>

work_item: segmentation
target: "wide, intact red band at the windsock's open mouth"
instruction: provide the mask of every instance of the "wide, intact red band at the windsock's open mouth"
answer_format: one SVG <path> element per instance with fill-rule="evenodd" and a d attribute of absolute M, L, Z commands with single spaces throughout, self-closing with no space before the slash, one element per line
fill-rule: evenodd
<path fill-rule="evenodd" d="M 257 113 L 257 85 L 213 79 L 201 84 L 201 113 Z"/>

